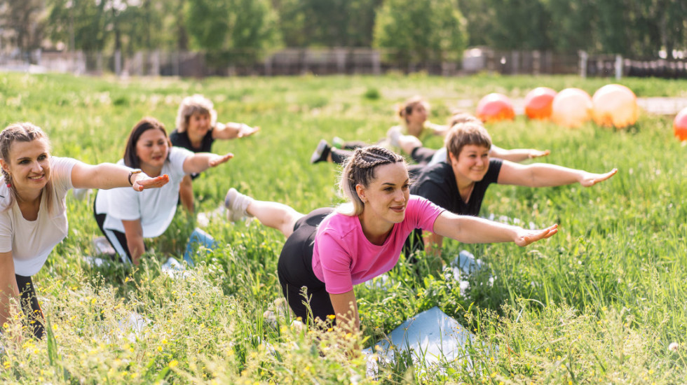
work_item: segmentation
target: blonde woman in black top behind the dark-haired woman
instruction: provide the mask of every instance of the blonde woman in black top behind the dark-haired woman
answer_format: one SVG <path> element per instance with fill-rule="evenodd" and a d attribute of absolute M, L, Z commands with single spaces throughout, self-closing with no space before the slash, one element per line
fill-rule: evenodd
<path fill-rule="evenodd" d="M 201 94 L 185 97 L 179 104 L 176 128 L 170 133 L 173 146 L 186 148 L 193 153 L 209 153 L 212 143 L 217 139 L 240 139 L 250 137 L 260 127 L 250 127 L 244 123 L 219 123 L 217 111 L 210 99 Z M 179 186 L 179 200 L 184 209 L 193 212 L 193 179 L 200 174 L 184 176 Z"/>

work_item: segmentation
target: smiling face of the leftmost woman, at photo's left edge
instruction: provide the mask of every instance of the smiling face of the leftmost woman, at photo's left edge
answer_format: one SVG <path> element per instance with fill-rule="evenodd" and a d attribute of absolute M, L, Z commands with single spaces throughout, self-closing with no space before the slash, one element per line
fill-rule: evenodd
<path fill-rule="evenodd" d="M 50 179 L 50 145 L 42 138 L 15 141 L 1 163 L 18 191 L 41 190 Z"/>

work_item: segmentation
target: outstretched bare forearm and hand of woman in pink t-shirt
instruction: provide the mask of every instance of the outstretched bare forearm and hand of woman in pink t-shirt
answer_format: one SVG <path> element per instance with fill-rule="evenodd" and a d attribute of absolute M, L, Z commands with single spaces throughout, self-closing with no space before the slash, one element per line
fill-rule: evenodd
<path fill-rule="evenodd" d="M 525 230 L 474 216 L 459 216 L 444 211 L 434 221 L 434 232 L 465 244 L 515 242 L 518 246 L 527 246 L 556 234 L 558 225 L 552 225 L 543 230 Z"/>

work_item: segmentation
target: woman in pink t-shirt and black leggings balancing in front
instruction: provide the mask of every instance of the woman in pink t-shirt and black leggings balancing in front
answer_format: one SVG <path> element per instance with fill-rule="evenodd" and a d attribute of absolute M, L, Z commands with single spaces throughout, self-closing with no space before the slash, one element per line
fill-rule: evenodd
<path fill-rule="evenodd" d="M 409 183 L 400 155 L 370 146 L 355 150 L 346 163 L 339 187 L 349 202 L 336 211 L 317 209 L 304 215 L 285 204 L 253 200 L 233 188 L 224 205 L 231 221 L 255 216 L 287 237 L 278 276 L 296 316 L 324 321 L 335 314 L 339 323 L 355 329 L 360 318 L 353 285 L 392 269 L 415 228 L 465 243 L 513 241 L 518 246 L 557 232 L 557 225 L 524 230 L 451 214 L 423 197 L 410 195 Z"/>

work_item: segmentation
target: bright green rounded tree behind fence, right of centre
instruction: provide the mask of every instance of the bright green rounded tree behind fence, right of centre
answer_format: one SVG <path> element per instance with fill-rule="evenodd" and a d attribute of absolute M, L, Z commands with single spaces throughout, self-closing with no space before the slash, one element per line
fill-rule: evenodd
<path fill-rule="evenodd" d="M 387 0 L 376 15 L 374 45 L 401 62 L 458 60 L 468 41 L 465 19 L 451 0 Z"/>

